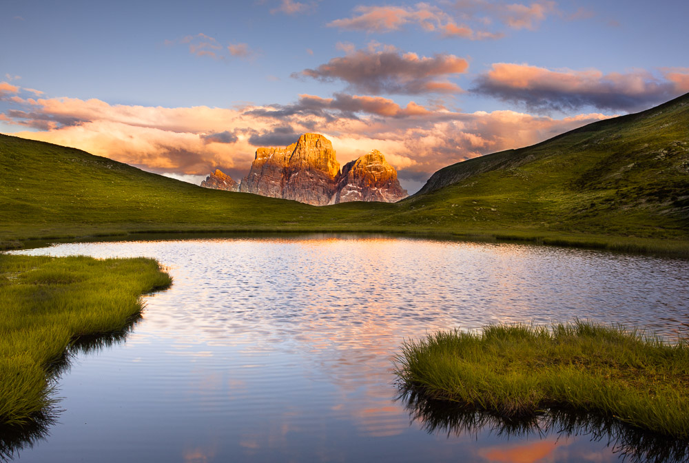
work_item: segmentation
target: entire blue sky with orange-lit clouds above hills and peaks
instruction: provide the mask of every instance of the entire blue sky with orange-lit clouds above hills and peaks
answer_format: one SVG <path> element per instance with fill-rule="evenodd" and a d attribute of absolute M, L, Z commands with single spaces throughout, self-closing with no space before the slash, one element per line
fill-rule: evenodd
<path fill-rule="evenodd" d="M 436 170 L 689 92 L 689 2 L 32 1 L 0 6 L 0 133 L 193 183 L 324 134 Z"/>

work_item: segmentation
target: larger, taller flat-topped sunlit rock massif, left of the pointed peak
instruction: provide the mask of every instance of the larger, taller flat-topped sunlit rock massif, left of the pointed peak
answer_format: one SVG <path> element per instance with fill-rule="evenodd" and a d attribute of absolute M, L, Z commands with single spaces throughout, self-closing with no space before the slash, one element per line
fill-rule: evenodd
<path fill-rule="evenodd" d="M 240 191 L 322 206 L 335 194 L 339 172 L 332 143 L 303 134 L 285 148 L 258 148 Z"/>

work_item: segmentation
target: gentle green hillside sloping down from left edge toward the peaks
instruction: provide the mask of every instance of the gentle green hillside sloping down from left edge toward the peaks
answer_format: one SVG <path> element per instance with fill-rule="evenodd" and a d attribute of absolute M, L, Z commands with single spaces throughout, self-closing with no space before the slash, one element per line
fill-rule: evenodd
<path fill-rule="evenodd" d="M 0 205 L 0 237 L 6 240 L 312 227 L 324 216 L 322 209 L 296 201 L 201 188 L 81 150 L 5 135 Z"/>

